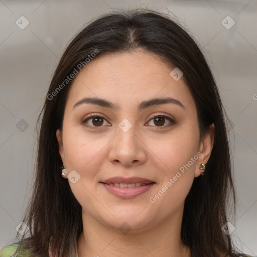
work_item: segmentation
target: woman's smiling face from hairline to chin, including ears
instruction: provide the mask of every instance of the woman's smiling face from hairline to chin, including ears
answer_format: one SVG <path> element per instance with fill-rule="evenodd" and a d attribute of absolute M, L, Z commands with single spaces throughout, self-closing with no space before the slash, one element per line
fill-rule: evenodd
<path fill-rule="evenodd" d="M 182 215 L 212 142 L 200 141 L 194 100 L 174 68 L 134 51 L 99 56 L 74 78 L 56 136 L 83 215 L 133 231 Z"/>

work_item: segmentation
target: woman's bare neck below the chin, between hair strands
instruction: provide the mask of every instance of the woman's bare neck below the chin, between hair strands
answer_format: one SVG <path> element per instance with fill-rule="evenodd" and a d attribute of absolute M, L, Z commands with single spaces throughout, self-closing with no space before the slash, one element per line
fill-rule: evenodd
<path fill-rule="evenodd" d="M 183 209 L 182 209 L 183 213 Z M 190 257 L 190 248 L 181 241 L 181 213 L 145 229 L 122 233 L 82 214 L 83 232 L 78 239 L 78 256 Z"/>

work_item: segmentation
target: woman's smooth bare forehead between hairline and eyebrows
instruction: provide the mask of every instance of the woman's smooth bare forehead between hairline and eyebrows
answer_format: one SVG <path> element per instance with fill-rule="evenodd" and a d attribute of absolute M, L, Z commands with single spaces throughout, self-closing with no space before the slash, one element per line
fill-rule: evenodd
<path fill-rule="evenodd" d="M 194 105 L 183 76 L 178 81 L 171 77 L 174 68 L 158 55 L 139 50 L 97 56 L 74 78 L 67 105 L 72 108 L 86 96 L 108 98 L 118 106 L 167 96 Z"/>

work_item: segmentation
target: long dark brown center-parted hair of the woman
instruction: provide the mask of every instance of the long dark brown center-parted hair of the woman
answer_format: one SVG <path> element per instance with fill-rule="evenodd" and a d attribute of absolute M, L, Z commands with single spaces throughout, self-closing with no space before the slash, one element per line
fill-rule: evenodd
<path fill-rule="evenodd" d="M 96 50 L 94 58 L 135 49 L 155 53 L 184 73 L 196 103 L 201 137 L 211 123 L 215 125 L 214 145 L 205 175 L 194 179 L 185 200 L 182 241 L 191 248 L 192 257 L 217 257 L 221 253 L 239 256 L 230 236 L 221 229 L 227 222 L 229 193 L 235 214 L 235 192 L 226 113 L 216 83 L 193 37 L 168 15 L 144 9 L 116 11 L 98 17 L 74 37 L 63 53 L 37 121 L 39 125 L 43 113 L 34 191 L 23 219 L 30 227 L 30 237 L 24 235 L 20 242 L 37 257 L 48 256 L 50 238 L 56 256 L 66 257 L 75 250 L 82 232 L 81 206 L 68 180 L 61 177 L 62 160 L 56 139 L 56 130 L 62 129 L 67 94 L 72 85 L 72 80 L 63 82 Z"/>

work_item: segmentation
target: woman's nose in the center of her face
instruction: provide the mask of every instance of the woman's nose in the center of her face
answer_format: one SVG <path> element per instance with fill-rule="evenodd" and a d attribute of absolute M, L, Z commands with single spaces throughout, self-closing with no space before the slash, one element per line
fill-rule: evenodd
<path fill-rule="evenodd" d="M 147 158 L 147 147 L 143 136 L 136 130 L 135 125 L 132 125 L 128 131 L 120 127 L 117 127 L 117 135 L 110 144 L 109 161 L 123 166 L 137 166 L 144 163 Z"/>

